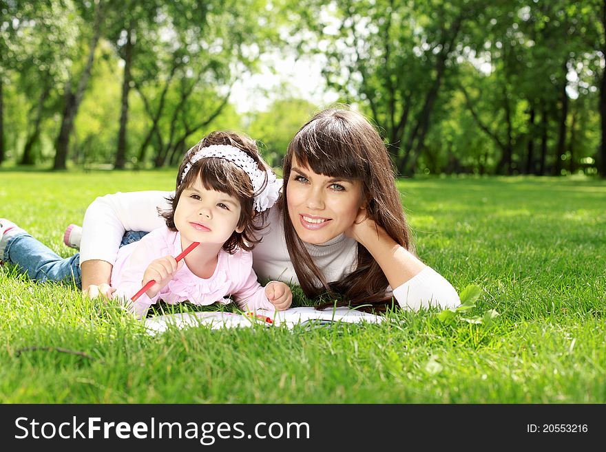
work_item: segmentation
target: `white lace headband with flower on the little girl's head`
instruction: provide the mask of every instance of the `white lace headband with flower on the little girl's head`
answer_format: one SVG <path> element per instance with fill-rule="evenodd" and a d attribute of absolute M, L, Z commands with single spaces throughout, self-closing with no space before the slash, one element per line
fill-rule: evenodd
<path fill-rule="evenodd" d="M 282 182 L 282 180 L 276 180 L 275 174 L 271 170 L 261 171 L 255 160 L 237 147 L 228 146 L 227 144 L 213 144 L 212 146 L 202 147 L 198 149 L 198 151 L 193 152 L 194 155 L 190 154 L 191 157 L 189 158 L 189 162 L 183 169 L 181 182 L 185 180 L 185 175 L 187 175 L 191 166 L 198 162 L 198 160 L 210 157 L 224 158 L 225 160 L 235 163 L 244 170 L 244 173 L 249 175 L 255 193 L 255 211 L 262 212 L 273 206 L 275 201 L 278 200 L 278 195 L 282 186 L 280 182 Z M 266 175 L 267 184 L 263 186 Z"/>

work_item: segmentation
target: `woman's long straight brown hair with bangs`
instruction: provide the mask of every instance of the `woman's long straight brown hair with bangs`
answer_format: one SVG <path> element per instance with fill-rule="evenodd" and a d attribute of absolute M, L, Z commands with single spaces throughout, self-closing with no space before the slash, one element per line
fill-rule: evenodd
<path fill-rule="evenodd" d="M 301 127 L 284 158 L 284 194 L 293 158 L 315 173 L 362 182 L 368 217 L 382 226 L 399 245 L 414 252 L 387 149 L 379 133 L 362 114 L 344 108 L 327 109 Z M 328 292 L 331 297 L 341 296 L 337 305 L 370 304 L 369 308 L 360 307 L 369 311 L 383 311 L 393 304 L 392 298 L 386 297 L 389 283 L 383 270 L 361 244 L 357 244 L 355 270 L 339 281 L 328 283 L 291 224 L 286 197 L 282 195 L 278 202 L 282 209 L 286 248 L 307 297 Z M 333 304 L 325 303 L 319 308 Z"/>

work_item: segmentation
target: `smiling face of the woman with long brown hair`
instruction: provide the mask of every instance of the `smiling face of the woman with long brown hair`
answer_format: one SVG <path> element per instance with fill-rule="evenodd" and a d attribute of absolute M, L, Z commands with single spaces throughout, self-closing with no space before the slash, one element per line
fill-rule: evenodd
<path fill-rule="evenodd" d="M 309 244 L 344 233 L 362 206 L 362 182 L 314 173 L 293 157 L 286 203 L 297 235 Z"/>

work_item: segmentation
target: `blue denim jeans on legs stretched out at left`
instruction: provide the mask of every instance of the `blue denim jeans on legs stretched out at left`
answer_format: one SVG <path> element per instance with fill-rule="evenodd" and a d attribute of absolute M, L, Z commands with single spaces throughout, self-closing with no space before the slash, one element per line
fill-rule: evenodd
<path fill-rule="evenodd" d="M 146 234 L 143 231 L 129 230 L 122 237 L 120 246 L 139 241 Z M 34 281 L 74 283 L 77 288 L 82 288 L 80 253 L 72 257 L 60 257 L 28 233 L 17 233 L 9 237 L 2 260 L 17 266 Z"/>

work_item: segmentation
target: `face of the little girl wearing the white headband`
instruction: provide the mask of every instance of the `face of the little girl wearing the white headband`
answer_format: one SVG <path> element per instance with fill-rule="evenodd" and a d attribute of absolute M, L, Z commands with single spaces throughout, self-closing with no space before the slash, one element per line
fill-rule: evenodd
<path fill-rule="evenodd" d="M 175 209 L 174 222 L 181 237 L 201 244 L 224 244 L 238 228 L 240 202 L 221 191 L 207 190 L 200 177 L 184 189 Z"/>

